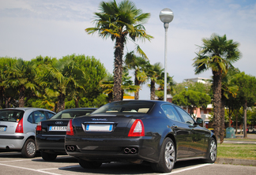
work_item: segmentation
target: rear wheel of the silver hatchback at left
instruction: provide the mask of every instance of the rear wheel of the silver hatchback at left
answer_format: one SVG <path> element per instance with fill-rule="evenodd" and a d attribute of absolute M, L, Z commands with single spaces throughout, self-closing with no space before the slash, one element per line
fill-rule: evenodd
<path fill-rule="evenodd" d="M 24 158 L 34 158 L 36 156 L 36 143 L 35 140 L 28 139 L 22 149 L 21 149 L 21 155 Z"/>

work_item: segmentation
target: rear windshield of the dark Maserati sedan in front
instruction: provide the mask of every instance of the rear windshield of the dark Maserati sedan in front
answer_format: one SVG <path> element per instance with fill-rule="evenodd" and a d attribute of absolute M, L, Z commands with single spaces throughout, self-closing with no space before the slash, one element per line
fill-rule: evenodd
<path fill-rule="evenodd" d="M 152 109 L 154 102 L 122 101 L 111 102 L 100 107 L 92 114 L 104 113 L 142 113 L 147 114 Z"/>

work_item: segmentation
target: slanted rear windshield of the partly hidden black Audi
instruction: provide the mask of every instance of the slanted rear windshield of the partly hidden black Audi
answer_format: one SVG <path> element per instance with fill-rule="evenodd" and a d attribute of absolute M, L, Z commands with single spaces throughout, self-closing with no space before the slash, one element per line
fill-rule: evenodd
<path fill-rule="evenodd" d="M 55 114 L 55 116 L 51 117 L 50 120 L 53 119 L 72 119 L 74 117 L 79 117 L 83 115 L 88 115 L 92 113 L 92 109 L 88 110 L 62 110 L 58 114 Z"/>

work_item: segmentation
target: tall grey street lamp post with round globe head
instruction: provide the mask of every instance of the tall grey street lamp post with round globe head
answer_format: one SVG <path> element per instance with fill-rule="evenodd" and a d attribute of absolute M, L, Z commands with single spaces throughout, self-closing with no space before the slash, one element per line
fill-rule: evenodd
<path fill-rule="evenodd" d="M 165 29 L 165 42 L 164 42 L 164 101 L 167 101 L 167 34 L 168 34 L 168 27 L 171 20 L 173 20 L 173 12 L 171 9 L 165 8 L 160 11 L 159 14 L 160 20 L 164 23 Z"/>

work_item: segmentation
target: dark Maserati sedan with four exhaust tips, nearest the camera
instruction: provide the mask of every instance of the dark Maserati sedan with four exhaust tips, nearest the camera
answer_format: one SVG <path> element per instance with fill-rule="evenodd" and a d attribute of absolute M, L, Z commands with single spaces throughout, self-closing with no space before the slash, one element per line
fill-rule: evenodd
<path fill-rule="evenodd" d="M 103 162 L 150 162 L 152 169 L 169 173 L 176 161 L 216 160 L 216 136 L 170 102 L 130 100 L 111 102 L 92 114 L 70 120 L 66 153 L 85 169 Z"/>

